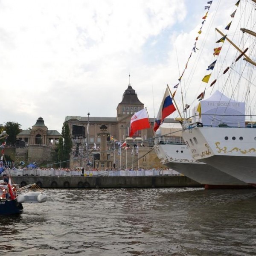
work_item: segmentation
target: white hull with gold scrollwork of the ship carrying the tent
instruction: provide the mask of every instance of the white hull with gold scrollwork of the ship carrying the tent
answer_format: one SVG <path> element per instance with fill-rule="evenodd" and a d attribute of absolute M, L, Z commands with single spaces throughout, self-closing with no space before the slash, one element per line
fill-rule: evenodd
<path fill-rule="evenodd" d="M 255 128 L 197 127 L 183 131 L 182 136 L 193 159 L 255 186 Z"/>

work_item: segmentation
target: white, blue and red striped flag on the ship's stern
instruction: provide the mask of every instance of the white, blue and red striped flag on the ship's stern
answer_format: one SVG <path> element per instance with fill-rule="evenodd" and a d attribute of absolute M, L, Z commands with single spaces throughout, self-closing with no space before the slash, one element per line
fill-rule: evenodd
<path fill-rule="evenodd" d="M 168 88 L 166 88 L 166 92 L 164 93 L 163 100 L 154 123 L 154 131 L 157 131 L 157 129 L 163 123 L 163 120 L 166 118 L 166 116 L 169 116 L 175 110 L 176 108 L 173 105 L 169 90 Z"/>

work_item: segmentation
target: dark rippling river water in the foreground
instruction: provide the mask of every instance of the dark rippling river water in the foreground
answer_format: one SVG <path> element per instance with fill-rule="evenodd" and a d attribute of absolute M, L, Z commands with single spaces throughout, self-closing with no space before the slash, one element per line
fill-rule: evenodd
<path fill-rule="evenodd" d="M 256 190 L 48 189 L 0 218 L 1 256 L 256 255 Z"/>

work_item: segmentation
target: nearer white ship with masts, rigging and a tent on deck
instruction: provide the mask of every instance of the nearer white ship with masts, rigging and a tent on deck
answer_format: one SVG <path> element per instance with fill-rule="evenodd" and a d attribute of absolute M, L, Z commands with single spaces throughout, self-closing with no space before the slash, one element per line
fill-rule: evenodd
<path fill-rule="evenodd" d="M 244 26 L 249 26 L 249 29 L 255 28 L 255 21 L 253 22 L 255 2 L 255 0 L 240 1 L 236 10 L 238 17 L 233 15 L 239 22 L 244 21 Z M 234 24 L 234 29 L 236 25 Z M 240 39 L 236 44 L 230 42 L 232 44 L 230 45 L 227 42 L 230 41 L 229 35 L 232 41 L 235 40 L 236 35 L 239 35 Z M 255 36 L 255 32 L 247 29 L 241 29 L 240 32 L 228 31 L 220 56 L 225 65 L 230 64 L 230 66 L 228 68 L 221 66 L 222 72 L 215 73 L 214 86 L 221 88 L 222 93 L 213 89 L 214 93 L 209 99 L 201 100 L 201 105 L 195 107 L 193 124 L 184 122 L 185 130 L 182 132 L 182 137 L 194 160 L 204 162 L 254 186 L 256 186 L 256 119 L 252 113 L 256 110 L 256 63 L 252 59 L 256 56 Z M 229 55 L 230 51 L 232 55 Z M 221 83 L 218 84 L 218 81 Z"/>

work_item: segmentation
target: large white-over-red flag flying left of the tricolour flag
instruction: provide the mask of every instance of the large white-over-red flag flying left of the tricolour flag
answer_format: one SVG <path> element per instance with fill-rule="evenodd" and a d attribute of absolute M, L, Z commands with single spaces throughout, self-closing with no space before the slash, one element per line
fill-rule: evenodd
<path fill-rule="evenodd" d="M 151 128 L 148 112 L 146 108 L 143 108 L 139 112 L 135 113 L 131 117 L 130 137 L 136 133 L 136 131 Z"/>

